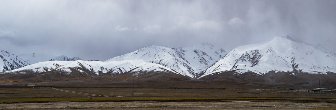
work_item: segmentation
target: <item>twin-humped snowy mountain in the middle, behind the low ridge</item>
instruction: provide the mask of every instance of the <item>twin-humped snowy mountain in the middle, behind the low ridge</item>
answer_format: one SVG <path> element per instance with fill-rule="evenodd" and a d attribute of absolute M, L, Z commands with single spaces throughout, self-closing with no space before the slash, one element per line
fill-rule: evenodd
<path fill-rule="evenodd" d="M 170 48 L 149 46 L 131 53 L 110 58 L 106 61 L 140 59 L 166 66 L 189 77 L 197 77 L 197 73 L 212 65 L 227 52 L 217 49 L 212 44 L 203 43 L 188 48 Z"/>

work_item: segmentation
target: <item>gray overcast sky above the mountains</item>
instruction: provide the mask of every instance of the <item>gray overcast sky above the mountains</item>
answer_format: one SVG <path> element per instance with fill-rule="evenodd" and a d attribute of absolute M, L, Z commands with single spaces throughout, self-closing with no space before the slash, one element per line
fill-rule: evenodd
<path fill-rule="evenodd" d="M 335 0 L 0 0 L 0 50 L 107 60 L 150 45 L 225 50 L 293 34 L 336 51 Z"/>

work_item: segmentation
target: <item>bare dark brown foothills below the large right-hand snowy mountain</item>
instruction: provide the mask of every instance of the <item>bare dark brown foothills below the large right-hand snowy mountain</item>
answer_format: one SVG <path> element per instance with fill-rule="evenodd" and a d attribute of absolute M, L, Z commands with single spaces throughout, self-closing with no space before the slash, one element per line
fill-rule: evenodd
<path fill-rule="evenodd" d="M 235 71 L 226 71 L 207 75 L 199 80 L 295 88 L 320 88 L 319 79 L 321 88 L 333 88 L 333 82 L 336 81 L 336 73 L 332 72 L 327 74 L 309 74 L 295 71 L 294 74 L 292 72 L 275 73 L 275 71 L 269 71 L 264 75 L 259 75 L 254 72 L 240 74 Z"/>

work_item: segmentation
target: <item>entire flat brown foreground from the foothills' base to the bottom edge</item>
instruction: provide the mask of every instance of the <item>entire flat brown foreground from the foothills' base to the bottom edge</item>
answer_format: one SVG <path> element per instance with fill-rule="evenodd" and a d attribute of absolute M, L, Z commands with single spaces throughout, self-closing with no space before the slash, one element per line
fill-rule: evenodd
<path fill-rule="evenodd" d="M 336 109 L 336 93 L 330 91 L 229 88 L 313 89 L 207 81 L 7 83 L 0 85 L 0 109 Z"/>

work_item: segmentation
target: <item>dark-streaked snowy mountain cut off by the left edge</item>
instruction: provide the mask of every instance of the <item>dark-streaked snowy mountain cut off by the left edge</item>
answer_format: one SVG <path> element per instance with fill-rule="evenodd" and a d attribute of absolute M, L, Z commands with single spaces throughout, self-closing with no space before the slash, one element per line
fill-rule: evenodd
<path fill-rule="evenodd" d="M 26 65 L 28 63 L 20 57 L 4 50 L 0 52 L 0 72 L 17 69 Z"/>

